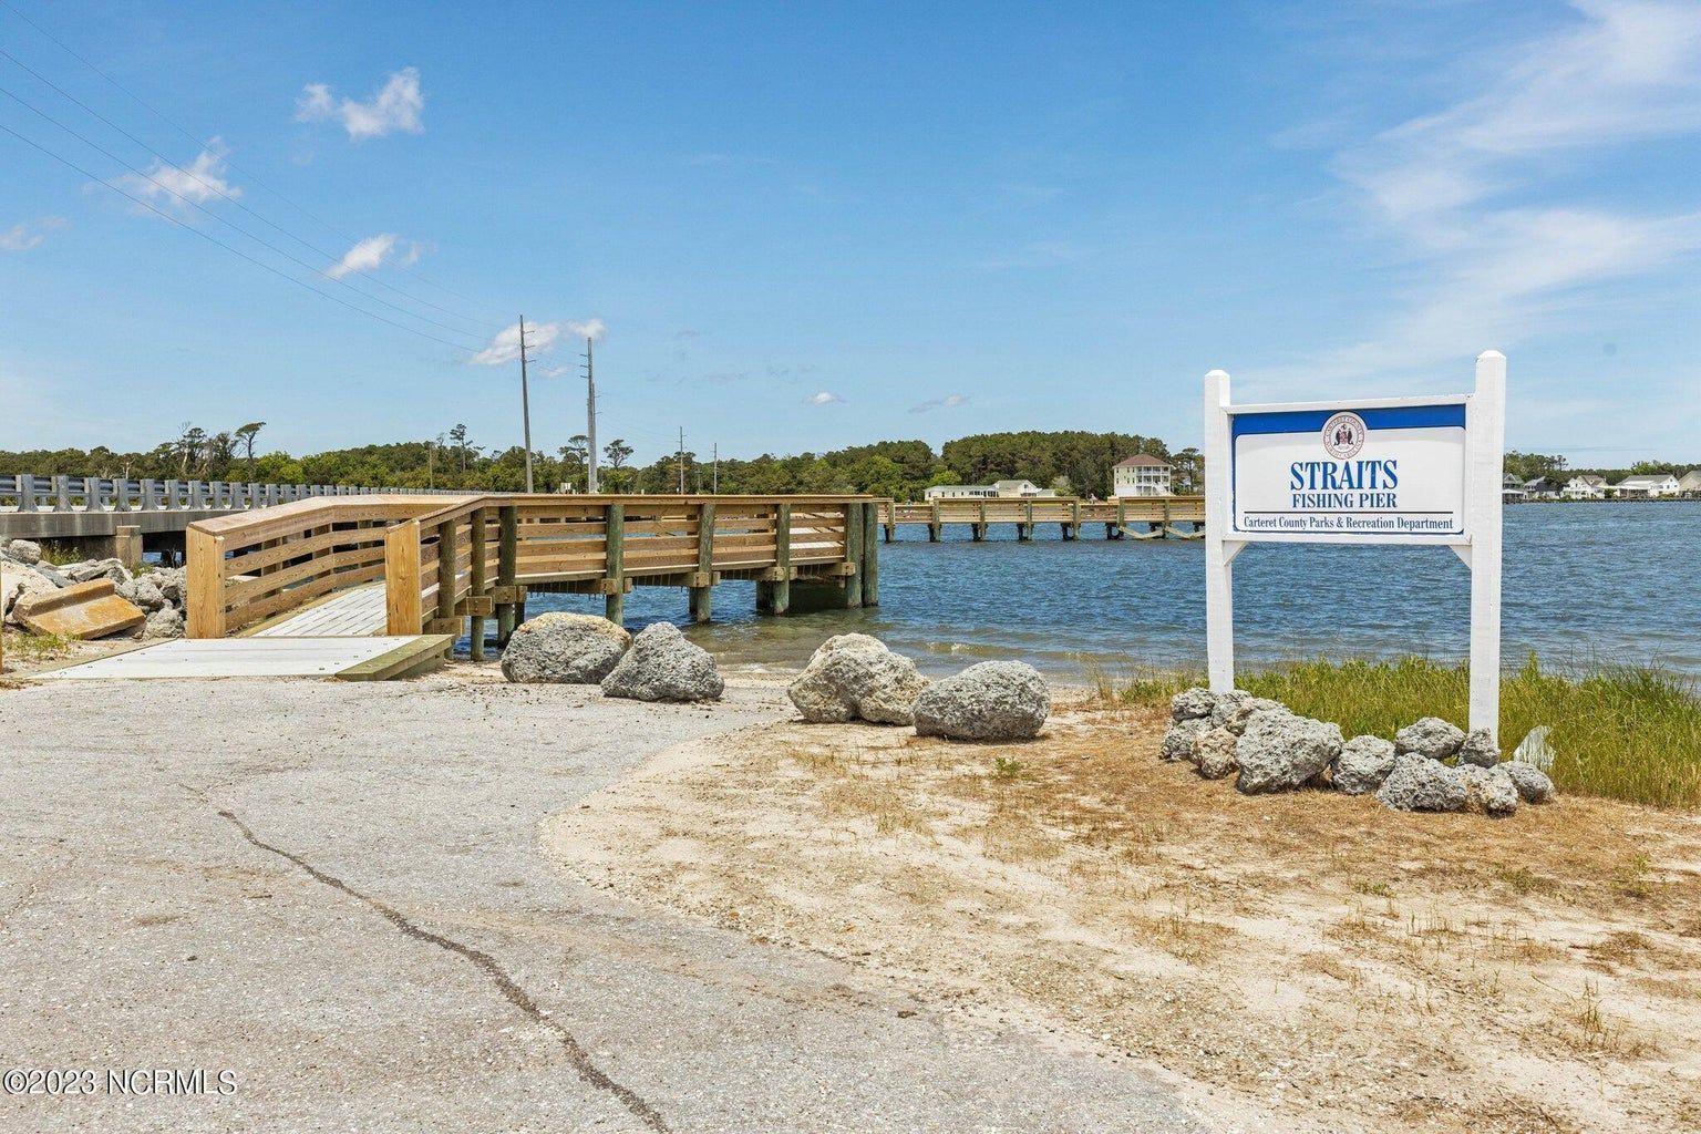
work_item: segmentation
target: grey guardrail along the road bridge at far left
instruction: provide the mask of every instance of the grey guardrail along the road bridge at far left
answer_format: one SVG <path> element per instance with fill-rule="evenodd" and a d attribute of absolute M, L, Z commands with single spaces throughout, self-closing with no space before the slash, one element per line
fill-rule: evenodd
<path fill-rule="evenodd" d="M 0 505 L 19 512 L 247 512 L 315 496 L 463 495 L 471 490 L 260 485 L 253 481 L 0 476 Z"/>

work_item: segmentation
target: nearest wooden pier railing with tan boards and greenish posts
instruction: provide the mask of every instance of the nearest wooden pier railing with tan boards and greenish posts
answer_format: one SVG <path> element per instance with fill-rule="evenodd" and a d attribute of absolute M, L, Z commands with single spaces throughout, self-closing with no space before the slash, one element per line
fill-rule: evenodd
<path fill-rule="evenodd" d="M 221 638 L 332 592 L 383 580 L 391 634 L 449 632 L 497 615 L 505 638 L 534 590 L 604 595 L 755 580 L 784 614 L 791 585 L 832 585 L 832 605 L 878 602 L 871 496 L 364 496 L 299 502 L 189 527 L 189 636 Z M 478 649 L 478 646 L 475 646 Z"/>

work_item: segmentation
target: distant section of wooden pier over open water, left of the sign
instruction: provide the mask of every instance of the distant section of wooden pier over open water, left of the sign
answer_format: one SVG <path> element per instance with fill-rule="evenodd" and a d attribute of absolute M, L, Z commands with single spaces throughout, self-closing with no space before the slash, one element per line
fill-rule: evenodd
<path fill-rule="evenodd" d="M 1077 539 L 1082 524 L 1104 524 L 1106 539 L 1199 539 L 1204 532 L 1204 496 L 970 496 L 893 503 L 881 500 L 879 524 L 890 544 L 898 525 L 927 525 L 927 539 L 939 542 L 947 524 L 963 524 L 973 539 L 987 539 L 992 524 L 1014 524 L 1015 537 L 1034 537 L 1038 524 L 1056 524 L 1063 539 Z M 1177 527 L 1191 524 L 1192 530 Z"/>

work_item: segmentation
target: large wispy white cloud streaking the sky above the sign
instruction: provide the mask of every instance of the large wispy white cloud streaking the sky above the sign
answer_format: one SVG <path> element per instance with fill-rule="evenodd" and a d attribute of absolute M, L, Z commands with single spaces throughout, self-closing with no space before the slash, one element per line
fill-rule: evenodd
<path fill-rule="evenodd" d="M 1335 172 L 1371 231 L 1398 245 L 1415 282 L 1363 342 L 1255 381 L 1470 359 L 1575 320 L 1601 284 L 1701 250 L 1701 213 L 1553 201 L 1579 155 L 1701 131 L 1701 5 L 1577 0 L 1573 9 L 1580 19 L 1562 31 L 1485 60 L 1495 78 L 1483 88 L 1337 155 Z"/>

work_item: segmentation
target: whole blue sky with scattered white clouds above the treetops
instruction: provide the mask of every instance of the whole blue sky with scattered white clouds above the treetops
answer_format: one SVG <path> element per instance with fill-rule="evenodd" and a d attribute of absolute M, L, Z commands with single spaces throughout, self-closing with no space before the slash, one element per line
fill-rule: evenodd
<path fill-rule="evenodd" d="M 114 155 L 0 97 L 88 173 L 0 131 L 0 449 L 517 444 L 524 313 L 541 449 L 600 325 L 640 459 L 1184 445 L 1211 367 L 1497 347 L 1510 445 L 1701 461 L 1701 3 L 9 3 L 122 90 L 0 5 L 0 90 Z"/>

